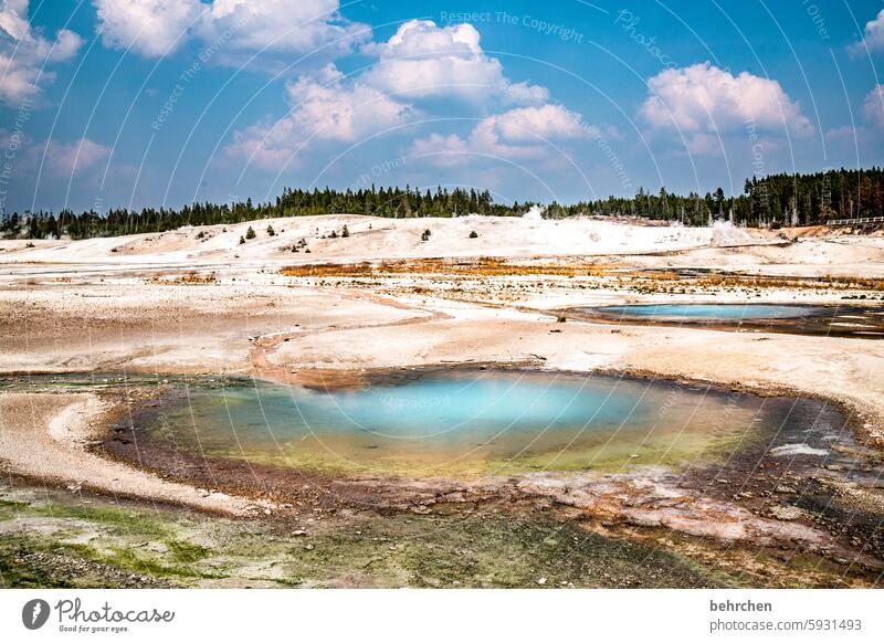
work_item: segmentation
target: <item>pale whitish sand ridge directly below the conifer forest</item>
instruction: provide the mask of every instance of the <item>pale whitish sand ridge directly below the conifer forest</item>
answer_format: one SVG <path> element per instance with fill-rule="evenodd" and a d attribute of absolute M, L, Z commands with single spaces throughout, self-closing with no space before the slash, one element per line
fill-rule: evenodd
<path fill-rule="evenodd" d="M 276 231 L 274 236 L 265 232 L 269 224 Z M 347 239 L 328 238 L 345 224 L 350 232 Z M 240 236 L 250 225 L 256 238 L 240 244 Z M 421 234 L 428 229 L 432 234 L 422 242 Z M 476 239 L 470 239 L 472 231 L 476 231 Z M 200 232 L 204 233 L 203 239 L 197 239 Z M 302 239 L 307 241 L 311 254 L 288 250 Z M 104 272 L 164 266 L 222 271 L 238 266 L 257 272 L 286 263 L 434 256 L 628 257 L 630 265 L 643 267 L 714 266 L 789 275 L 884 276 L 883 235 L 831 235 L 823 234 L 820 228 L 764 231 L 720 224 L 644 226 L 588 219 L 379 219 L 327 214 L 73 242 L 0 241 L 0 263 L 29 262 L 32 265 L 25 272 L 30 274 L 51 272 L 53 263 Z"/>

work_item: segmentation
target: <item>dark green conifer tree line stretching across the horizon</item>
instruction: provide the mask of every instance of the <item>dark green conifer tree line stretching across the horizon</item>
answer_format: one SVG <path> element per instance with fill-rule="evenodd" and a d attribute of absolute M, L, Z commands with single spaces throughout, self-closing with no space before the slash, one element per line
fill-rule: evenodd
<path fill-rule="evenodd" d="M 181 209 L 118 208 L 98 213 L 53 212 L 3 213 L 0 236 L 4 239 L 53 239 L 70 236 L 115 236 L 139 232 L 164 232 L 181 225 L 232 224 L 255 219 L 311 214 L 369 214 L 388 218 L 457 217 L 483 214 L 520 217 L 530 201 L 495 203 L 488 190 L 410 187 L 358 190 L 285 189 L 274 201 L 254 204 L 251 199 L 233 203 L 192 203 Z M 884 170 L 836 169 L 808 175 L 771 175 L 747 179 L 744 193 L 726 197 L 722 188 L 701 196 L 659 192 L 639 188 L 634 197 L 609 197 L 545 208 L 550 219 L 576 215 L 641 217 L 706 225 L 715 219 L 738 225 L 813 225 L 829 219 L 880 217 L 884 214 Z"/>

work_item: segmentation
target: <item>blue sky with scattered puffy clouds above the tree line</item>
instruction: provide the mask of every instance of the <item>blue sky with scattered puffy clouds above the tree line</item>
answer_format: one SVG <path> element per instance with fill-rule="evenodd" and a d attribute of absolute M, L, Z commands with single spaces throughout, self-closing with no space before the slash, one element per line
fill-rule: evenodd
<path fill-rule="evenodd" d="M 0 0 L 0 210 L 882 165 L 881 0 Z"/>

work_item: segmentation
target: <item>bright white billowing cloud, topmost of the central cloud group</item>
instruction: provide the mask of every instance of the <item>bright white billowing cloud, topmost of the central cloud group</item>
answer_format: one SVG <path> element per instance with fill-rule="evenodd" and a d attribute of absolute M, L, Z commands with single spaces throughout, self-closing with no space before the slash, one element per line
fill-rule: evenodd
<path fill-rule="evenodd" d="M 409 98 L 455 97 L 475 103 L 494 98 L 504 104 L 543 103 L 549 92 L 513 83 L 497 59 L 486 55 L 472 24 L 436 27 L 431 20 L 402 23 L 385 43 L 368 45 L 378 64 L 364 81 Z"/>

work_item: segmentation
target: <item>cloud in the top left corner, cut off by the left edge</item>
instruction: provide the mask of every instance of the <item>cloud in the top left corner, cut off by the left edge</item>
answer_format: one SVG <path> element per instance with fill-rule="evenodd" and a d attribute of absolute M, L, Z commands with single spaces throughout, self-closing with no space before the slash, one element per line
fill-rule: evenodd
<path fill-rule="evenodd" d="M 55 80 L 46 65 L 70 61 L 83 40 L 62 29 L 50 40 L 31 29 L 28 0 L 7 0 L 0 8 L 0 102 L 21 103 L 38 96 Z"/>

